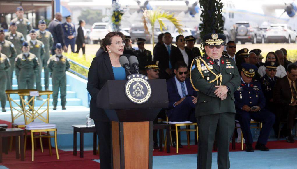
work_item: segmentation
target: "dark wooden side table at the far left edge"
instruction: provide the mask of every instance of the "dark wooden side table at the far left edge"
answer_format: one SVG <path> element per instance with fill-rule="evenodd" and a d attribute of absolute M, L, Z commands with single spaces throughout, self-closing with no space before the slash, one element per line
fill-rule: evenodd
<path fill-rule="evenodd" d="M 0 162 L 2 162 L 2 138 L 15 136 L 15 157 L 20 158 L 24 161 L 24 132 L 25 130 L 20 128 L 6 129 L 6 131 L 0 132 Z M 20 136 L 20 154 L 19 154 L 19 143 L 18 136 Z"/>

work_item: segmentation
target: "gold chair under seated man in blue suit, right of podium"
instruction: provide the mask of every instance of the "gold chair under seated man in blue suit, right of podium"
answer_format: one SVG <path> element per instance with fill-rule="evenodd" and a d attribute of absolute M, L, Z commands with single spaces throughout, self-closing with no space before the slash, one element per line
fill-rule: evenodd
<path fill-rule="evenodd" d="M 198 126 L 197 123 L 192 123 L 191 121 L 168 121 L 168 117 L 166 116 L 166 121 L 168 124 L 170 124 L 170 131 L 176 132 L 176 153 L 178 153 L 178 132 L 186 131 L 187 132 L 187 145 L 188 149 L 190 149 L 190 140 L 189 140 L 189 132 L 195 131 L 197 134 L 197 140 L 198 140 Z M 178 126 L 186 126 L 186 129 L 178 129 Z M 190 129 L 190 126 L 196 126 L 196 129 Z M 171 129 L 171 127 L 174 127 L 174 129 Z M 171 132 L 170 132 L 170 138 L 171 138 Z M 166 143 L 167 139 L 165 138 L 165 148 L 164 151 L 166 151 Z M 171 138 L 171 145 L 172 145 L 172 138 Z"/>

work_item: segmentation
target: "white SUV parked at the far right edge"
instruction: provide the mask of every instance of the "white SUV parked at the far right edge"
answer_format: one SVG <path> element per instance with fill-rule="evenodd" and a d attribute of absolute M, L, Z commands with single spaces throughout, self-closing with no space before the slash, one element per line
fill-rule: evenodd
<path fill-rule="evenodd" d="M 265 36 L 267 42 L 296 42 L 296 33 L 287 24 L 271 24 Z"/>

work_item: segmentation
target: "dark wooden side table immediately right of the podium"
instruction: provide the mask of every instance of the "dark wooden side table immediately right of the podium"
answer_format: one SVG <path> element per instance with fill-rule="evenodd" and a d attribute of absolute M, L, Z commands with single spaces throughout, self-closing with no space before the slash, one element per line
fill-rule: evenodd
<path fill-rule="evenodd" d="M 167 153 L 170 153 L 170 124 L 167 123 L 156 123 L 154 124 L 153 130 L 159 130 L 159 151 L 163 151 L 163 129 L 166 129 L 166 138 L 167 138 Z"/>

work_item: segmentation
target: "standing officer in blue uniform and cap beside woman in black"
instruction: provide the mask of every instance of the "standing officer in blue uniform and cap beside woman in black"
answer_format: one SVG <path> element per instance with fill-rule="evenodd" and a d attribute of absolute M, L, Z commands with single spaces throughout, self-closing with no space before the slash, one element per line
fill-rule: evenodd
<path fill-rule="evenodd" d="M 74 45 L 75 45 L 75 26 L 71 23 L 71 16 L 66 17 L 66 22 L 62 24 L 62 28 L 64 30 L 64 38 L 65 38 L 65 46 L 68 48 L 70 45 L 71 52 L 74 53 Z M 67 53 L 67 49 L 64 50 Z"/>

